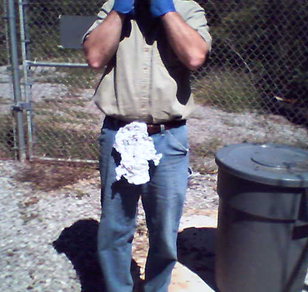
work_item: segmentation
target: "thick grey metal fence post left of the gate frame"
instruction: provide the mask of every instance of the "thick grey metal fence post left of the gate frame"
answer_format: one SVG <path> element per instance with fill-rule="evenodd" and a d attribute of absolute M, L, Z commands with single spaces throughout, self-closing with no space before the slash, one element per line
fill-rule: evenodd
<path fill-rule="evenodd" d="M 22 97 L 20 90 L 20 73 L 18 64 L 18 47 L 17 47 L 17 33 L 16 33 L 16 13 L 14 7 L 14 0 L 8 0 L 8 19 L 9 19 L 9 33 L 10 33 L 10 50 L 11 50 L 11 67 L 13 75 L 13 89 L 14 89 L 14 117 L 17 125 L 18 135 L 18 154 L 19 160 L 24 162 L 26 159 L 25 147 L 25 132 L 24 132 L 24 117 Z"/>

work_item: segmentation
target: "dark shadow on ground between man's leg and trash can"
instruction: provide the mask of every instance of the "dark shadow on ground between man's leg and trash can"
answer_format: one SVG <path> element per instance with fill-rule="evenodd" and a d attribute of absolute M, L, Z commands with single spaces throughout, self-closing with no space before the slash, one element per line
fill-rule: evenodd
<path fill-rule="evenodd" d="M 196 273 L 213 290 L 216 228 L 184 229 L 178 235 L 179 262 Z"/>

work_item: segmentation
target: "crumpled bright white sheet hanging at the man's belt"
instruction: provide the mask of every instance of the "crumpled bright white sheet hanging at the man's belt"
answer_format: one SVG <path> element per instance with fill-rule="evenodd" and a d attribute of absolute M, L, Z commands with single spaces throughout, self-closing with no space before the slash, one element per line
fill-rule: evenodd
<path fill-rule="evenodd" d="M 153 139 L 149 137 L 147 125 L 132 122 L 120 128 L 113 147 L 121 154 L 116 168 L 117 180 L 125 177 L 130 184 L 140 185 L 150 180 L 149 161 L 159 164 L 162 154 L 157 154 Z"/>

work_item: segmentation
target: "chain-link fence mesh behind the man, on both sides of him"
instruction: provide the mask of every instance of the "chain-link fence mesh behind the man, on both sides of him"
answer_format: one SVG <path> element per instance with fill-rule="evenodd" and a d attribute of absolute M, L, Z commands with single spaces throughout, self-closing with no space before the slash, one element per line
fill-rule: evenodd
<path fill-rule="evenodd" d="M 214 43 L 206 64 L 192 75 L 197 102 L 228 112 L 278 113 L 307 123 L 308 1 L 198 2 Z M 6 2 L 0 5 L 2 16 L 8 15 Z M 100 75 L 86 67 L 82 50 L 60 45 L 60 25 L 63 16 L 93 16 L 100 6 L 98 0 L 15 3 L 25 103 L 21 110 L 31 159 L 96 161 L 102 114 L 92 94 Z M 6 18 L 0 21 L 6 27 Z M 1 30 L 0 40 L 0 155 L 13 157 L 7 30 Z"/>

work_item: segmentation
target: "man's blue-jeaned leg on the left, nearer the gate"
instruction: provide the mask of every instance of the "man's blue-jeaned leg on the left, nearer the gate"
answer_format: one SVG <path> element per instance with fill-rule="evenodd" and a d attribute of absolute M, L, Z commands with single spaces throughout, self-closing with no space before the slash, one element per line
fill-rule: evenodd
<path fill-rule="evenodd" d="M 98 231 L 98 256 L 106 292 L 131 292 L 131 245 L 135 230 L 139 188 L 116 181 L 116 161 L 112 148 L 116 129 L 104 125 L 100 136 L 102 214 Z"/>

